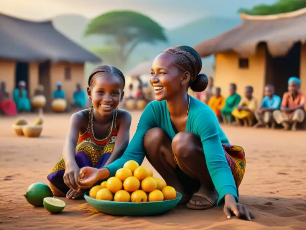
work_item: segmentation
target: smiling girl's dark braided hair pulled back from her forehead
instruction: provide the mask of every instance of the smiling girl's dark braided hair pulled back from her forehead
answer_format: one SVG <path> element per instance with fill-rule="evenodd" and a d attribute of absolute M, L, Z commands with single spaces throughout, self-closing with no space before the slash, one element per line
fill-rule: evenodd
<path fill-rule="evenodd" d="M 91 71 L 91 74 L 88 78 L 88 86 L 91 87 L 97 78 L 106 74 L 117 76 L 122 83 L 122 90 L 124 89 L 125 77 L 123 73 L 117 67 L 109 65 L 98 66 L 93 71 Z"/>

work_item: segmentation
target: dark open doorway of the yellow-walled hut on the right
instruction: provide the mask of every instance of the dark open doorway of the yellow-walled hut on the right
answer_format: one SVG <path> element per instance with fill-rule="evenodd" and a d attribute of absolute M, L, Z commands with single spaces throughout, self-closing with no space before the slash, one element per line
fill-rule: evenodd
<path fill-rule="evenodd" d="M 295 43 L 286 56 L 272 57 L 266 49 L 266 84 L 275 86 L 275 94 L 282 97 L 288 88 L 289 77 L 300 78 L 301 43 Z"/>

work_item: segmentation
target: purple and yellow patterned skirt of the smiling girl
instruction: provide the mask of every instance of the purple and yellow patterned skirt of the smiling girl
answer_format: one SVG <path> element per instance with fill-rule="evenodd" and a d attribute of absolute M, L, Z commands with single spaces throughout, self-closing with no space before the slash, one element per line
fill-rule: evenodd
<path fill-rule="evenodd" d="M 99 157 L 98 163 L 93 166 L 93 162 L 95 159 L 94 155 L 86 154 L 85 152 L 78 151 L 76 152 L 75 159 L 79 168 L 82 167 L 95 167 L 101 168 L 105 165 L 106 161 L 109 159 L 111 153 L 107 152 Z M 64 159 L 61 158 L 59 162 L 55 165 L 51 173 L 47 176 L 50 182 L 50 188 L 54 196 L 57 197 L 65 197 L 67 192 L 69 191 L 69 187 L 64 182 L 64 173 L 65 173 L 65 162 Z"/>

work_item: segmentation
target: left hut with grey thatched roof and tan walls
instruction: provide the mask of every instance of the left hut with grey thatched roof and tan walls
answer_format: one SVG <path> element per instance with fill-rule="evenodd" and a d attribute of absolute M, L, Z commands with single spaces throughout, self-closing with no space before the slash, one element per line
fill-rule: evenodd
<path fill-rule="evenodd" d="M 76 83 L 84 83 L 86 61 L 101 59 L 58 32 L 52 21 L 27 21 L 0 13 L 0 81 L 6 81 L 10 93 L 20 80 L 27 82 L 29 97 L 42 84 L 50 102 L 60 81 L 71 101 Z"/>

